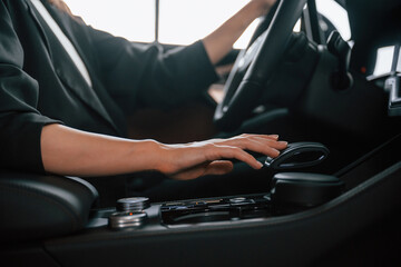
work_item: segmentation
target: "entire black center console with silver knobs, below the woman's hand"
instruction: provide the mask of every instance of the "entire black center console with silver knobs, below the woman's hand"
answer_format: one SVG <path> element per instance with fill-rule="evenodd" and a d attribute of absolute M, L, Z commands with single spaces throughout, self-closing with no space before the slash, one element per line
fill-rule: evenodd
<path fill-rule="evenodd" d="M 358 234 L 372 239 L 378 221 L 400 221 L 400 146 L 397 137 L 333 176 L 278 172 L 264 194 L 120 199 L 91 210 L 84 229 L 40 239 L 36 250 L 19 246 L 18 259 L 36 255 L 35 261 L 51 263 L 42 266 L 326 266 L 324 256 L 335 260 Z"/>

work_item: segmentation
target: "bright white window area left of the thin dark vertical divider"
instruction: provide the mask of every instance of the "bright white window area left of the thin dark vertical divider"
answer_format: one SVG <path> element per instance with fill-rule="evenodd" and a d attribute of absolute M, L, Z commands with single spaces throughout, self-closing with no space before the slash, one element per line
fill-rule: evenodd
<path fill-rule="evenodd" d="M 155 0 L 63 0 L 96 29 L 131 41 L 155 40 Z"/>

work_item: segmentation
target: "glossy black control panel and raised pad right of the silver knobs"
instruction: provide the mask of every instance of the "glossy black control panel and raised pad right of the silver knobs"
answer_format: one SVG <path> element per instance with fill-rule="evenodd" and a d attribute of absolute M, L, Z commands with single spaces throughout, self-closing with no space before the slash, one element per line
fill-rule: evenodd
<path fill-rule="evenodd" d="M 291 215 L 330 201 L 343 187 L 333 176 L 283 172 L 273 177 L 270 192 L 166 202 L 160 207 L 160 219 L 172 227 Z"/>

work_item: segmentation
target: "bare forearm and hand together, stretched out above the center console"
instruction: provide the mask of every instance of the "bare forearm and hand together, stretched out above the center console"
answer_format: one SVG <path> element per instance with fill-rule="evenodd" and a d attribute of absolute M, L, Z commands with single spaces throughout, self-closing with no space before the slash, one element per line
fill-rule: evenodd
<path fill-rule="evenodd" d="M 157 170 L 175 179 L 222 175 L 233 169 L 237 159 L 255 169 L 262 168 L 245 150 L 270 157 L 278 156 L 286 142 L 277 136 L 241 135 L 186 145 L 164 145 L 154 140 L 128 140 L 48 125 L 41 132 L 45 170 L 67 176 L 110 176 Z"/>

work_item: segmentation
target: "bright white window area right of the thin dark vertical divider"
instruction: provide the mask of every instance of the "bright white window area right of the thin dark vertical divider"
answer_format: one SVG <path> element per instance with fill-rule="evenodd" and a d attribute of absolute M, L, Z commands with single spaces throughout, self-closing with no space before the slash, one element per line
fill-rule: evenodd
<path fill-rule="evenodd" d="M 159 41 L 189 44 L 206 37 L 250 0 L 160 0 Z M 254 22 L 234 47 L 250 41 Z"/>

